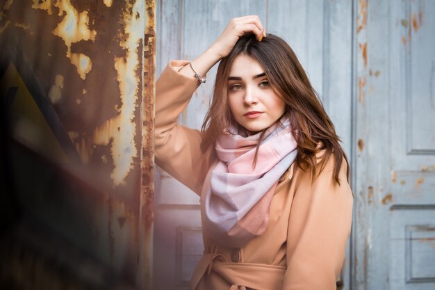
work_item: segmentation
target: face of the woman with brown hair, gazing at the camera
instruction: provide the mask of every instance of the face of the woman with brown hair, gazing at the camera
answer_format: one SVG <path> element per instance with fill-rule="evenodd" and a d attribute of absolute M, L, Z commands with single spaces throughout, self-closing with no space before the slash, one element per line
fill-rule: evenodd
<path fill-rule="evenodd" d="M 234 58 L 227 92 L 234 119 L 248 131 L 266 129 L 284 114 L 285 104 L 272 90 L 263 67 L 245 54 Z"/>

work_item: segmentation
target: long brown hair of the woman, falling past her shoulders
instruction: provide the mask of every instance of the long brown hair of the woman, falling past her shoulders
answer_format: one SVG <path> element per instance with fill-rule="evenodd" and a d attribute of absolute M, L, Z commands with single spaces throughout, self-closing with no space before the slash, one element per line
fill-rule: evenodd
<path fill-rule="evenodd" d="M 349 163 L 325 108 L 311 86 L 302 65 L 299 63 L 293 49 L 277 35 L 268 34 L 263 41 L 258 42 L 254 35 L 244 35 L 231 50 L 222 58 L 217 68 L 213 99 L 202 124 L 203 152 L 213 157 L 217 136 L 224 129 L 238 126 L 229 109 L 227 98 L 227 80 L 231 65 L 239 54 L 254 58 L 264 68 L 272 89 L 279 95 L 286 106 L 284 115 L 290 120 L 293 135 L 297 142 L 296 165 L 302 170 L 309 169 L 313 179 L 316 175 L 316 164 L 320 158 L 320 170 L 325 167 L 331 154 L 334 155 L 335 183 L 340 168 L 345 159 L 347 164 L 347 181 L 349 180 Z M 324 150 L 324 154 L 316 157 L 316 153 Z"/>

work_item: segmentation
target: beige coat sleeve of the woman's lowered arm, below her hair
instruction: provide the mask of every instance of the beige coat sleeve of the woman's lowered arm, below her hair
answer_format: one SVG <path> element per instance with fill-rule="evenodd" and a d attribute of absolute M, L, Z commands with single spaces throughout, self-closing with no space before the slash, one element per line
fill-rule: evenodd
<path fill-rule="evenodd" d="M 312 182 L 300 172 L 288 223 L 285 290 L 336 289 L 352 225 L 353 196 L 340 168 L 340 185 L 332 183 L 334 157 Z"/>

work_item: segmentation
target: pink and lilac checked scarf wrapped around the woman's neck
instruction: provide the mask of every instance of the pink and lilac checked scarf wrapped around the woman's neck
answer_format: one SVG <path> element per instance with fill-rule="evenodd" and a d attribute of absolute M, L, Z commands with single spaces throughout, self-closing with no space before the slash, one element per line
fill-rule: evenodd
<path fill-rule="evenodd" d="M 222 134 L 215 145 L 219 162 L 203 191 L 204 230 L 213 241 L 231 248 L 243 247 L 268 227 L 279 177 L 297 155 L 290 121 L 285 120 L 265 131 L 252 168 L 259 136 Z"/>

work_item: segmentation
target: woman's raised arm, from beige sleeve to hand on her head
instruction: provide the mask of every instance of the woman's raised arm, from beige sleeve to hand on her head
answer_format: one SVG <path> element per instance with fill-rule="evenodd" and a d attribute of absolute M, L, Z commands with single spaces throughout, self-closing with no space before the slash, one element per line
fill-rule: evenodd
<path fill-rule="evenodd" d="M 209 160 L 200 150 L 200 132 L 177 122 L 199 86 L 192 67 L 200 76 L 205 76 L 245 33 L 254 33 L 258 40 L 263 38 L 265 32 L 258 16 L 231 19 L 213 45 L 191 65 L 188 61 L 171 61 L 156 82 L 156 163 L 197 194 L 200 194 Z"/>

